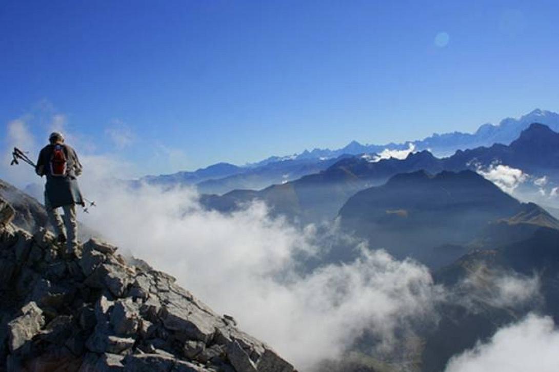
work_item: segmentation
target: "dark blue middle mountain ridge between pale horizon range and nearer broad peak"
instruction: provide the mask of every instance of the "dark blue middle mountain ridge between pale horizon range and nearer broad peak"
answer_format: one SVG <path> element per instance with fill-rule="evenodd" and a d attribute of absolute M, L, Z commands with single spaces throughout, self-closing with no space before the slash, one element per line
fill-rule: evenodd
<path fill-rule="evenodd" d="M 349 197 L 359 190 L 382 185 L 399 173 L 478 170 L 500 162 L 527 169 L 533 176 L 553 179 L 559 174 L 558 156 L 559 134 L 547 126 L 533 123 L 510 145 L 457 151 L 443 159 L 435 158 L 427 150 L 410 154 L 405 159 L 380 161 L 372 161 L 367 156 L 351 156 L 319 173 L 292 182 L 259 191 L 235 190 L 222 196 L 204 195 L 202 202 L 210 209 L 231 211 L 239 204 L 261 199 L 274 213 L 285 214 L 304 223 L 317 222 L 333 219 Z"/>

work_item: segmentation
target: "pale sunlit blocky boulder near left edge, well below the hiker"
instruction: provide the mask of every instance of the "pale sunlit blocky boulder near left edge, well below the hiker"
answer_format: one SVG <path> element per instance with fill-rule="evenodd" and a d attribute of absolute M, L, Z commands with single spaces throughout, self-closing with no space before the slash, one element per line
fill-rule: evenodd
<path fill-rule="evenodd" d="M 35 302 L 21 308 L 21 316 L 8 323 L 8 347 L 14 352 L 37 335 L 45 325 L 41 309 Z"/>

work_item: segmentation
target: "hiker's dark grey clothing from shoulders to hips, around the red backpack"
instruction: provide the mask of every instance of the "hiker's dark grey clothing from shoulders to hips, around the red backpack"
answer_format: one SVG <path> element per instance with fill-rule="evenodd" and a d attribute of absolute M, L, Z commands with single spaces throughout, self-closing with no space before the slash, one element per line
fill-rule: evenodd
<path fill-rule="evenodd" d="M 82 174 L 82 164 L 74 149 L 68 145 L 64 147 L 67 159 L 67 175 L 65 177 L 54 177 L 50 173 L 50 161 L 53 155 L 54 145 L 46 145 L 39 153 L 35 171 L 41 177 L 46 175 L 45 197 L 49 199 L 53 208 L 68 206 L 70 204 L 84 205 L 82 193 L 79 190 L 77 177 Z"/>

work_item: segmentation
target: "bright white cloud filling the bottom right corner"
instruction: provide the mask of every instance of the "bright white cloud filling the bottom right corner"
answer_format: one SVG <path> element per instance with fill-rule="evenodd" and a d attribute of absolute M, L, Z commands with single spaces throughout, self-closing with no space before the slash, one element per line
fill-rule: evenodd
<path fill-rule="evenodd" d="M 501 328 L 487 343 L 454 356 L 446 372 L 555 372 L 559 366 L 559 331 L 551 317 L 529 314 Z"/>

